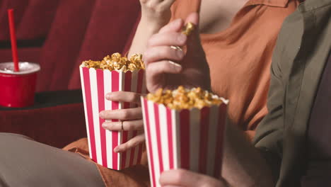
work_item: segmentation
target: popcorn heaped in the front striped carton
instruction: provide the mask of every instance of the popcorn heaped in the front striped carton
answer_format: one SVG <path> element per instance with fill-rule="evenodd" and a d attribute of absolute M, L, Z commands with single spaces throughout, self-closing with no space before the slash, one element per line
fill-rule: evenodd
<path fill-rule="evenodd" d="M 178 89 L 174 91 L 158 89 L 155 94 L 148 94 L 147 99 L 175 110 L 191 108 L 201 109 L 205 106 L 210 107 L 223 103 L 221 98 L 208 91 L 203 91 L 199 87 L 185 89 L 183 86 L 178 86 Z"/>

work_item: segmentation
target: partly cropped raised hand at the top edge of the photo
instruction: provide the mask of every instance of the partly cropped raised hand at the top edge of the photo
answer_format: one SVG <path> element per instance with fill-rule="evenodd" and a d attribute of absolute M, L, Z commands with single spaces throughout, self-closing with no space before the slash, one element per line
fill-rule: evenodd
<path fill-rule="evenodd" d="M 140 0 L 141 20 L 164 26 L 170 21 L 170 7 L 175 0 Z"/>

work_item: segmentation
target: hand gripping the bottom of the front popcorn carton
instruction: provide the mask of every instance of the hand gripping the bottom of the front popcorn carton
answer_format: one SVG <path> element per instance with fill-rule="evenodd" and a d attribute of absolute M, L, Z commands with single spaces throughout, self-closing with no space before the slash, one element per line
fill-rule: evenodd
<path fill-rule="evenodd" d="M 160 177 L 161 186 L 180 186 L 180 187 L 226 187 L 226 183 L 206 176 L 197 174 L 185 169 L 175 169 L 164 171 Z"/>

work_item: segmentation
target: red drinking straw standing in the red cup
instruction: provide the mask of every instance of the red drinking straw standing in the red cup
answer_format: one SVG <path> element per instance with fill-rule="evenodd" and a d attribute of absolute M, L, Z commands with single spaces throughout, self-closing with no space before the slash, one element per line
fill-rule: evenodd
<path fill-rule="evenodd" d="M 8 21 L 9 21 L 9 28 L 11 30 L 11 52 L 13 55 L 14 72 L 19 72 L 20 69 L 18 67 L 18 55 L 17 55 L 17 44 L 16 44 L 13 9 L 8 9 Z"/>

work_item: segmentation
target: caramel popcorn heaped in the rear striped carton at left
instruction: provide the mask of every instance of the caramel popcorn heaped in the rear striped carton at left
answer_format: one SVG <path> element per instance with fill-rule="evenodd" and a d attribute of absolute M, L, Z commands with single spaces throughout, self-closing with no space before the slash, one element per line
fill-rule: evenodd
<path fill-rule="evenodd" d="M 109 69 L 110 71 L 122 71 L 127 72 L 139 69 L 145 69 L 144 61 L 142 60 L 141 54 L 134 54 L 130 57 L 122 57 L 120 53 L 107 55 L 102 61 L 86 60 L 81 63 L 81 67 L 94 68 L 94 69 Z"/>

